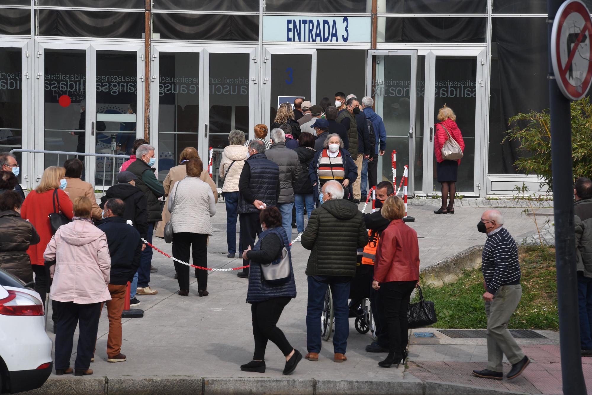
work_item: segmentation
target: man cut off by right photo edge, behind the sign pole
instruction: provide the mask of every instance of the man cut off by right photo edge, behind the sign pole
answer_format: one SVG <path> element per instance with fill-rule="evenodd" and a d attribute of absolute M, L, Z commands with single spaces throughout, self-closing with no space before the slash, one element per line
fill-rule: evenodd
<path fill-rule="evenodd" d="M 592 181 L 577 179 L 574 196 L 580 343 L 582 356 L 592 356 Z"/>

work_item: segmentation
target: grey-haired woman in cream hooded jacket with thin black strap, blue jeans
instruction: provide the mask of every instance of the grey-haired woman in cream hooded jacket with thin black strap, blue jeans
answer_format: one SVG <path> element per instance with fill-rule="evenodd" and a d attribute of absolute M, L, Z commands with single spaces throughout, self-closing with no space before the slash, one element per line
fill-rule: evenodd
<path fill-rule="evenodd" d="M 220 177 L 224 178 L 222 196 L 226 202 L 226 241 L 228 243 L 228 257 L 234 258 L 236 254 L 236 218 L 239 208 L 239 179 L 243 171 L 244 161 L 247 158 L 249 148 L 244 146 L 244 132 L 231 130 L 228 135 L 230 145 L 224 148 L 222 161 L 220 162 Z M 240 245 L 239 251 L 243 251 Z"/>

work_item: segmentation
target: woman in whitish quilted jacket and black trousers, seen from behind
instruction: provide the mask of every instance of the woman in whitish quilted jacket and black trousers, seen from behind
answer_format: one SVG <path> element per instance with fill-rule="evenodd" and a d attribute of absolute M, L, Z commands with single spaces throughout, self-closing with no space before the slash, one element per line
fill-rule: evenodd
<path fill-rule="evenodd" d="M 170 189 L 168 208 L 173 227 L 173 257 L 189 262 L 193 247 L 193 264 L 208 267 L 208 236 L 214 233 L 211 216 L 216 214 L 214 194 L 208 183 L 200 180 L 204 164 L 200 159 L 186 163 L 187 176 Z M 179 295 L 189 296 L 189 266 L 175 261 Z M 207 296 L 208 273 L 195 269 L 197 287 L 201 296 Z"/>

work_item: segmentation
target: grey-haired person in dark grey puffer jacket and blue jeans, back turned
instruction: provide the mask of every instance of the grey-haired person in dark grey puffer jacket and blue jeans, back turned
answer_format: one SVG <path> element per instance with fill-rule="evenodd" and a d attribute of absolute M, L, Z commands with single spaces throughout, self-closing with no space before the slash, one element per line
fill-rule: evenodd
<path fill-rule="evenodd" d="M 298 165 L 298 154 L 286 146 L 285 133 L 282 129 L 271 129 L 271 141 L 273 144 L 271 148 L 265 151 L 265 156 L 279 167 L 279 186 L 281 190 L 278 198 L 278 209 L 282 213 L 282 228 L 286 231 L 288 239 L 291 240 L 292 208 L 294 208 L 294 187 L 292 187 L 292 182 Z"/>

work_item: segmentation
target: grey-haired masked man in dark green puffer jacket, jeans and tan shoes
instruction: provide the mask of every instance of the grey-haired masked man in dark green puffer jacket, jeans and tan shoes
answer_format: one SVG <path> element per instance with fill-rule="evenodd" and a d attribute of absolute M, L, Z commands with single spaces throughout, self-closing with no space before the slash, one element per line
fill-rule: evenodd
<path fill-rule="evenodd" d="M 156 222 L 162 219 L 160 209 L 160 196 L 165 195 L 165 188 L 156 178 L 152 167 L 156 163 L 155 148 L 152 145 L 143 144 L 136 149 L 136 161 L 128 166 L 127 171 L 136 176 L 136 186 L 146 195 L 148 211 L 148 232 L 146 240 L 152 244 L 152 234 Z M 146 246 L 142 251 L 140 267 L 138 268 L 138 283 L 136 295 L 156 295 L 158 291 L 150 288 L 150 266 L 152 266 L 152 248 Z M 132 284 L 131 294 L 134 289 Z"/>

